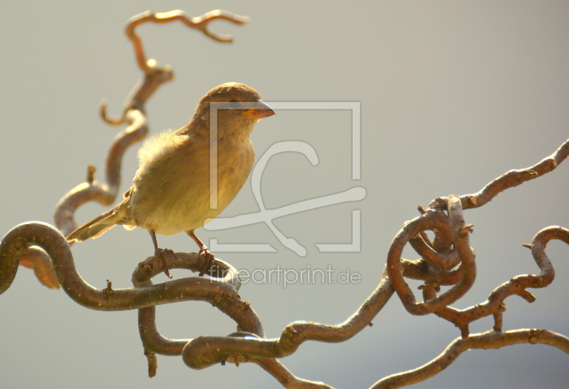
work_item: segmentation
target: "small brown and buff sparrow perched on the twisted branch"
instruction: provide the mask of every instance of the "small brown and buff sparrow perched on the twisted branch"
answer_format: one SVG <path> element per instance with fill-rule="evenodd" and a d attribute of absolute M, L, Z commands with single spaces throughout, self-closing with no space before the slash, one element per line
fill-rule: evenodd
<path fill-rule="evenodd" d="M 221 104 L 211 106 L 215 102 Z M 213 115 L 211 107 L 218 107 Z M 68 243 L 98 238 L 119 224 L 127 230 L 146 228 L 154 255 L 163 258 L 166 275 L 171 278 L 166 253 L 174 252 L 160 249 L 156 234 L 184 231 L 200 247 L 203 275 L 213 265 L 214 255 L 196 236 L 196 229 L 216 218 L 237 196 L 255 161 L 252 129 L 260 119 L 274 114 L 248 85 L 226 82 L 214 87 L 201 98 L 184 127 L 155 134 L 142 144 L 137 154 L 139 168 L 122 202 L 70 233 Z M 210 136 L 212 126 L 217 137 Z M 213 144 L 217 150 L 217 182 L 210 183 Z M 212 192 L 216 193 L 213 207 L 211 185 L 216 189 Z"/>

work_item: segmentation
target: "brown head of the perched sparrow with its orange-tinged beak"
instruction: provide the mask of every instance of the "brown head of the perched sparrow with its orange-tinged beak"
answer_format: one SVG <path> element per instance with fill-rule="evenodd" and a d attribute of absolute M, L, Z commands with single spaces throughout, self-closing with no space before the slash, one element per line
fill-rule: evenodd
<path fill-rule="evenodd" d="M 247 135 L 260 119 L 275 114 L 259 93 L 239 82 L 218 85 L 203 96 L 196 107 L 193 120 L 216 124 L 220 135 L 243 132 Z"/>

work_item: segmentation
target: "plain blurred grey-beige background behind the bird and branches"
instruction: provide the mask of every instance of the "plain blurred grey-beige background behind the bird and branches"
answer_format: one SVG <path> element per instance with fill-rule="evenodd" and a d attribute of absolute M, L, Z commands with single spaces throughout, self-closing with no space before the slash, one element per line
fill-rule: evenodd
<path fill-rule="evenodd" d="M 361 179 L 351 176 L 349 110 L 277 110 L 257 124 L 257 159 L 272 144 L 311 145 L 319 164 L 298 153 L 273 156 L 261 181 L 268 209 L 328 196 L 355 186 L 361 201 L 274 220 L 306 248 L 300 257 L 267 225 L 198 230 L 209 243 L 268 244 L 275 252 L 219 252 L 239 270 L 331 267 L 361 280 L 288 284 L 248 282 L 241 297 L 260 315 L 267 336 L 292 321 L 338 324 L 376 288 L 390 241 L 406 220 L 437 196 L 474 193 L 509 169 L 536 164 L 569 136 L 569 4 L 565 1 L 3 1 L 0 25 L 0 231 L 19 223 L 53 223 L 55 203 L 99 168 L 117 128 L 98 117 L 102 98 L 118 115 L 141 73 L 124 35 L 142 11 L 183 9 L 198 16 L 225 9 L 250 16 L 235 26 L 211 24 L 235 42 L 211 41 L 179 22 L 139 27 L 149 58 L 169 63 L 175 78 L 147 103 L 151 133 L 188 122 L 212 87 L 238 81 L 266 102 L 360 102 Z M 124 156 L 129 188 L 136 151 Z M 454 307 L 484 302 L 511 277 L 536 273 L 528 249 L 538 230 L 569 226 L 569 162 L 467 211 L 477 251 L 474 287 Z M 78 223 L 107 208 L 90 203 Z M 361 215 L 359 252 L 319 252 L 316 244 L 351 243 L 352 211 Z M 250 181 L 222 216 L 259 211 Z M 185 234 L 159 236 L 161 247 L 193 252 Z M 215 250 L 214 250 L 215 252 Z M 73 246 L 80 275 L 95 287 L 130 287 L 134 267 L 152 254 L 148 233 L 115 228 Z M 412 250 L 405 257 L 416 259 Z M 506 300 L 504 329 L 546 328 L 569 335 L 569 247 L 548 246 L 556 279 L 528 304 Z M 174 271 L 174 277 L 187 272 Z M 155 282 L 164 282 L 161 275 Z M 418 286 L 417 283 L 413 284 Z M 164 336 L 225 335 L 235 324 L 210 304 L 158 307 Z M 155 378 L 139 340 L 137 311 L 85 309 L 62 290 L 42 287 L 21 268 L 0 296 L 0 377 L 3 388 L 280 388 L 253 364 L 187 368 L 181 357 L 158 357 Z M 491 329 L 486 318 L 471 331 Z M 336 388 L 368 388 L 385 375 L 416 368 L 459 336 L 434 315 L 411 316 L 393 297 L 374 326 L 339 344 L 307 342 L 282 360 L 295 375 Z M 566 388 L 568 356 L 549 346 L 521 345 L 462 354 L 445 371 L 414 388 Z M 459 383 L 459 384 L 457 384 Z"/>

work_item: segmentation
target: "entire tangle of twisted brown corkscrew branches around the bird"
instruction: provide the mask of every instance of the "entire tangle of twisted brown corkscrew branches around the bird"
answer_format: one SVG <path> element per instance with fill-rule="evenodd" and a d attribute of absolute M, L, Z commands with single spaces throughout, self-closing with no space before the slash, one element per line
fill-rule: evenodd
<path fill-rule="evenodd" d="M 115 201 L 120 184 L 120 170 L 124 151 L 132 144 L 144 139 L 148 133 L 144 104 L 159 85 L 173 78 L 171 68 L 159 68 L 156 60 L 147 60 L 142 43 L 134 28 L 142 23 L 169 23 L 182 21 L 191 28 L 202 31 L 216 41 L 230 42 L 230 36 L 220 36 L 208 31 L 208 23 L 218 18 L 242 24 L 245 16 L 226 11 L 211 11 L 191 18 L 183 11 L 154 14 L 147 11 L 129 20 L 126 33 L 134 46 L 134 53 L 143 78 L 134 87 L 124 103 L 124 112 L 119 119 L 107 117 L 107 103 L 101 105 L 101 115 L 109 124 L 129 125 L 113 139 L 107 156 L 105 182 L 97 183 L 95 168 L 89 166 L 87 182 L 69 191 L 59 201 L 55 210 L 55 223 L 67 235 L 75 229 L 75 210 L 87 201 L 97 201 L 108 206 Z M 218 260 L 207 273 L 208 277 L 187 277 L 154 285 L 151 278 L 166 270 L 161 257 L 149 257 L 140 262 L 132 276 L 133 288 L 112 289 L 107 282 L 105 289 L 96 289 L 78 275 L 70 247 L 63 235 L 46 223 L 23 223 L 7 233 L 0 243 L 0 294 L 9 288 L 18 270 L 18 264 L 33 267 L 36 275 L 48 287 L 63 286 L 65 292 L 78 304 L 97 310 L 139 309 L 139 331 L 144 353 L 149 361 L 149 375 L 156 374 L 156 354 L 181 355 L 191 368 L 201 369 L 215 363 L 251 362 L 261 366 L 275 377 L 285 388 L 331 388 L 297 378 L 275 358 L 289 356 L 304 341 L 336 343 L 351 339 L 362 329 L 372 325 L 372 320 L 383 309 L 394 292 L 411 314 L 434 313 L 451 321 L 461 331 L 462 338 L 455 339 L 440 356 L 413 371 L 390 375 L 378 381 L 372 388 L 398 388 L 430 378 L 450 366 L 458 356 L 468 349 L 500 348 L 517 343 L 543 343 L 555 346 L 569 353 L 569 339 L 544 329 L 519 329 L 501 332 L 504 300 L 513 294 L 528 302 L 536 297 L 528 288 L 546 287 L 553 282 L 555 271 L 546 255 L 546 245 L 551 239 L 569 244 L 569 230 L 558 226 L 541 230 L 533 238 L 532 255 L 541 270 L 539 275 L 519 275 L 496 287 L 486 302 L 467 309 L 450 307 L 472 287 L 476 277 L 474 252 L 469 243 L 472 225 L 464 219 L 464 209 L 477 208 L 491 201 L 507 188 L 519 186 L 538 176 L 553 171 L 569 154 L 569 140 L 548 158 L 527 169 L 512 170 L 491 181 L 481 191 L 471 194 L 435 198 L 430 208 L 419 208 L 420 217 L 405 223 L 395 235 L 388 252 L 381 280 L 376 290 L 361 307 L 344 323 L 338 325 L 297 321 L 283 329 L 276 339 L 265 339 L 262 323 L 248 302 L 240 299 L 238 289 L 240 276 L 235 268 Z M 445 213 L 445 211 L 447 213 Z M 431 242 L 425 233 L 431 230 L 435 239 Z M 400 257 L 403 247 L 409 243 L 420 255 L 420 260 L 405 260 Z M 51 267 L 53 263 L 53 267 Z M 200 270 L 199 255 L 176 253 L 169 260 L 169 267 Z M 405 277 L 421 279 L 423 302 L 417 302 L 415 295 L 405 282 Z M 57 282 L 55 281 L 57 280 Z M 452 287 L 440 296 L 440 285 Z M 198 300 L 209 302 L 237 324 L 238 331 L 228 336 L 201 336 L 196 339 L 169 339 L 156 328 L 158 304 Z M 469 334 L 469 323 L 484 316 L 494 316 L 494 331 L 484 334 Z"/>

